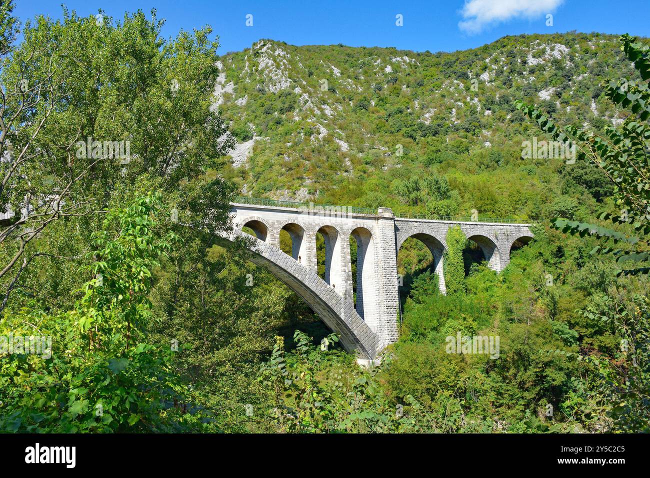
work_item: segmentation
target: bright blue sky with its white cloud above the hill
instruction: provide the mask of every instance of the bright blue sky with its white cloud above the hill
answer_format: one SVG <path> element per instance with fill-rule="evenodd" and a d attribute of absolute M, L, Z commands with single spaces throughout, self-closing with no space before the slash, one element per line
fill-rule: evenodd
<path fill-rule="evenodd" d="M 259 38 L 435 52 L 473 48 L 507 34 L 577 30 L 650 36 L 648 0 L 16 0 L 15 14 L 23 21 L 37 14 L 60 18 L 61 3 L 81 16 L 101 8 L 116 18 L 155 7 L 166 20 L 164 36 L 209 24 L 220 37 L 220 54 L 250 47 Z M 552 26 L 546 25 L 547 14 Z M 400 27 L 397 15 L 402 15 Z"/>

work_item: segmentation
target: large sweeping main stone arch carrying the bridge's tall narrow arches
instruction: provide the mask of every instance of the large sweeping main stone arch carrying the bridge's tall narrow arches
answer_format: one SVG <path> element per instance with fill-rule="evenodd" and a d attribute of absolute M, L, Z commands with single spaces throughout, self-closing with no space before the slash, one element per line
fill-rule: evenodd
<path fill-rule="evenodd" d="M 357 351 L 362 360 L 376 358 L 381 347 L 378 336 L 354 310 L 354 304 L 341 297 L 315 271 L 303 267 L 273 245 L 259 239 L 250 239 L 251 236 L 245 232 L 235 229 L 230 235 L 219 237 L 218 242 L 227 246 L 237 237 L 253 241 L 248 259 L 264 267 L 302 297 L 318 317 L 339 334 L 344 349 Z"/>

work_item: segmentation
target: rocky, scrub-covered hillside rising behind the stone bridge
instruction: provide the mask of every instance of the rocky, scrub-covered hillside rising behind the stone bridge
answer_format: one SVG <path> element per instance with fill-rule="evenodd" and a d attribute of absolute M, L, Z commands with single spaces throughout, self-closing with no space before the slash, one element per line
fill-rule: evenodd
<path fill-rule="evenodd" d="M 560 122 L 602 129 L 625 115 L 599 83 L 634 77 L 618 36 L 599 33 L 504 36 L 451 53 L 263 39 L 219 61 L 216 103 L 238 142 L 224 174 L 242 194 L 409 208 L 395 182 L 439 174 L 460 198 L 438 213 L 486 206 L 472 204 L 467 179 L 454 179 L 459 170 L 482 176 L 560 167 L 521 159 L 522 141 L 538 132 L 515 100 L 538 103 Z M 535 189 L 532 176 L 527 185 Z M 379 184 L 368 190 L 359 181 Z M 490 189 L 506 194 L 499 184 Z M 519 207 L 509 214 L 532 213 Z"/>

